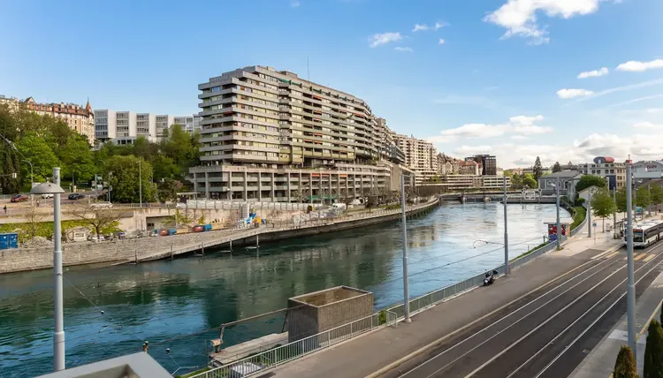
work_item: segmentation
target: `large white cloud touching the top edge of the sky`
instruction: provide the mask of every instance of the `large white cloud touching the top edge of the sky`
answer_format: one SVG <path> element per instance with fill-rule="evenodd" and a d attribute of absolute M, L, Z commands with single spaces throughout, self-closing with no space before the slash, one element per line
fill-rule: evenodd
<path fill-rule="evenodd" d="M 550 42 L 548 32 L 537 25 L 537 12 L 545 12 L 548 17 L 570 19 L 598 11 L 600 0 L 507 0 L 497 11 L 486 17 L 491 22 L 507 29 L 502 38 L 521 36 L 528 38 L 530 44 L 538 45 Z"/>

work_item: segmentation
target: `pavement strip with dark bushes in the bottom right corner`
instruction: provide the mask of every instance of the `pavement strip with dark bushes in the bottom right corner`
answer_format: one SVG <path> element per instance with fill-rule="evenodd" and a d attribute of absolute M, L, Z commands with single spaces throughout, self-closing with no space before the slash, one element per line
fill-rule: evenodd
<path fill-rule="evenodd" d="M 637 373 L 643 376 L 644 346 L 647 326 L 652 319 L 659 319 L 660 301 L 663 298 L 663 273 L 642 293 L 636 303 Z M 613 373 L 614 361 L 621 345 L 629 344 L 626 314 L 613 329 L 583 359 L 569 378 L 608 378 Z"/>

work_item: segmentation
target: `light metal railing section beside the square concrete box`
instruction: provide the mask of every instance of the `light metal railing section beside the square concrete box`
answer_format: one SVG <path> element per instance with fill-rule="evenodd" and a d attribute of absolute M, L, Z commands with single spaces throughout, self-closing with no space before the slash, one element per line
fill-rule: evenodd
<path fill-rule="evenodd" d="M 301 359 L 309 353 L 329 348 L 331 345 L 339 344 L 383 325 L 396 326 L 397 323 L 398 315 L 390 311 L 386 312 L 386 319 L 382 324 L 380 314 L 372 314 L 293 343 L 279 345 L 267 351 L 255 353 L 223 367 L 215 367 L 201 374 L 192 375 L 189 378 L 247 377 L 261 374 L 267 369 L 278 367 L 278 365 L 285 364 L 293 359 Z"/>

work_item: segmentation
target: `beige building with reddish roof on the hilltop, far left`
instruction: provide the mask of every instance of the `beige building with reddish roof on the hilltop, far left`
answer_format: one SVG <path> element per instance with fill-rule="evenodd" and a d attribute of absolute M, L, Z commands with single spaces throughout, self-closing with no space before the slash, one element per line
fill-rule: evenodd
<path fill-rule="evenodd" d="M 40 103 L 35 102 L 32 97 L 27 97 L 27 99 L 20 101 L 17 98 L 0 95 L 0 103 L 7 104 L 12 111 L 24 107 L 42 116 L 61 119 L 74 132 L 85 136 L 89 144 L 95 143 L 95 114 L 92 111 L 89 101 L 83 107 L 75 103 L 65 102 Z"/>

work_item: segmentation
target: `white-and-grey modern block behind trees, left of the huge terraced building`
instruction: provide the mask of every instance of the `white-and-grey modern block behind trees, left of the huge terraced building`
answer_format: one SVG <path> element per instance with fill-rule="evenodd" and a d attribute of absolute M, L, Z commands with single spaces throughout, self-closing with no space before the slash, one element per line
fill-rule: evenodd
<path fill-rule="evenodd" d="M 171 125 L 181 125 L 193 134 L 200 128 L 198 115 L 177 117 L 167 114 L 135 113 L 133 111 L 95 110 L 95 137 L 118 145 L 133 144 L 138 137 L 158 141 Z"/>

